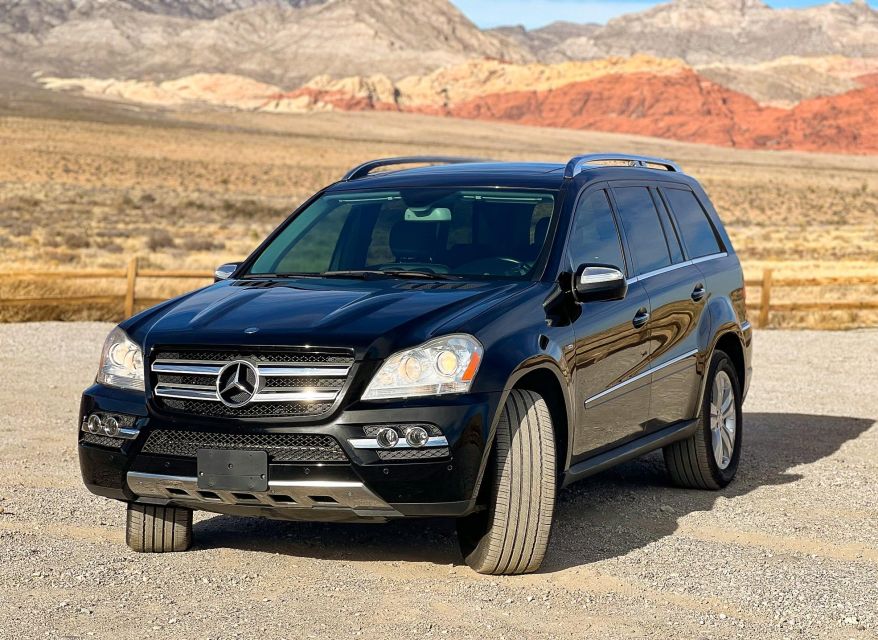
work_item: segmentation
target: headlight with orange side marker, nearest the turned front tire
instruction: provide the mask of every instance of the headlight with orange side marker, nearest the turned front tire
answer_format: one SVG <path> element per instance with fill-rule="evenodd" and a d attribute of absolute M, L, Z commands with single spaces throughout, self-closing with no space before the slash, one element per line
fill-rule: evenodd
<path fill-rule="evenodd" d="M 481 343 L 465 334 L 400 351 L 381 366 L 363 400 L 466 393 L 479 370 L 482 353 Z"/>

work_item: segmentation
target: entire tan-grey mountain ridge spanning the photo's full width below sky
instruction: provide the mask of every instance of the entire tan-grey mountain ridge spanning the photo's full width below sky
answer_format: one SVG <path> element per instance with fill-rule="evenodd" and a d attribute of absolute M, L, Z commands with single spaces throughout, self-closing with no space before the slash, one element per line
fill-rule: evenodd
<path fill-rule="evenodd" d="M 638 53 L 693 65 L 878 57 L 878 11 L 865 0 L 799 10 L 675 0 L 603 26 L 482 31 L 448 0 L 0 0 L 0 66 L 71 77 L 211 72 L 293 86 L 321 74 L 397 79 L 473 58 Z"/>

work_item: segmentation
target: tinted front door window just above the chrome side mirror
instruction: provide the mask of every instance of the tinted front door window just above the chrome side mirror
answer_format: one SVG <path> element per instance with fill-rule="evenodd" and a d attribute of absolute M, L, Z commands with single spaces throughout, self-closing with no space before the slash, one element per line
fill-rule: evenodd
<path fill-rule="evenodd" d="M 590 263 L 625 270 L 619 230 L 606 191 L 594 191 L 579 201 L 569 247 L 574 268 Z"/>

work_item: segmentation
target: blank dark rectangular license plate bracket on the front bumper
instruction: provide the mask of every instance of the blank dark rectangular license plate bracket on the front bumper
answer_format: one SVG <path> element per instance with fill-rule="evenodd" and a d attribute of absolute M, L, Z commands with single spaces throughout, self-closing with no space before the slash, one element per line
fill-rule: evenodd
<path fill-rule="evenodd" d="M 204 491 L 268 491 L 268 453 L 199 449 L 198 488 Z"/>

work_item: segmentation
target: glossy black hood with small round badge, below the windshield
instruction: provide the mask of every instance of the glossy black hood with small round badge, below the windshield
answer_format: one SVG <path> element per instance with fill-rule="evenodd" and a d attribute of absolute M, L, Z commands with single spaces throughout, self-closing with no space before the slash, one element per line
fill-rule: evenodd
<path fill-rule="evenodd" d="M 157 345 L 351 347 L 386 358 L 453 333 L 530 282 L 381 279 L 226 281 L 165 303 L 125 328 Z"/>

